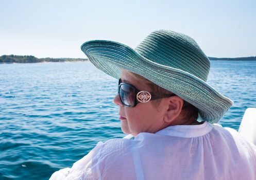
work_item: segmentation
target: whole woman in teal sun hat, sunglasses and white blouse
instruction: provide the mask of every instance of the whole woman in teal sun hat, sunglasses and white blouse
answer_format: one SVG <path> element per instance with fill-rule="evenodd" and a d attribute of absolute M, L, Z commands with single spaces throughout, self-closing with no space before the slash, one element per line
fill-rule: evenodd
<path fill-rule="evenodd" d="M 154 31 L 132 49 L 111 41 L 81 46 L 119 79 L 122 131 L 50 179 L 256 179 L 256 147 L 214 125 L 232 105 L 206 83 L 210 61 L 187 35 Z"/>

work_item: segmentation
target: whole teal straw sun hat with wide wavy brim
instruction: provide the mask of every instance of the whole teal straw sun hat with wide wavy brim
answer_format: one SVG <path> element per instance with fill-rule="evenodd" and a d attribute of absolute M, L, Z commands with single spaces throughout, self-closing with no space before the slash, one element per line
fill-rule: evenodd
<path fill-rule="evenodd" d="M 135 49 L 95 40 L 81 46 L 98 69 L 119 79 L 122 69 L 141 75 L 193 104 L 202 120 L 216 123 L 232 101 L 206 83 L 210 61 L 197 43 L 182 33 L 157 30 Z"/>

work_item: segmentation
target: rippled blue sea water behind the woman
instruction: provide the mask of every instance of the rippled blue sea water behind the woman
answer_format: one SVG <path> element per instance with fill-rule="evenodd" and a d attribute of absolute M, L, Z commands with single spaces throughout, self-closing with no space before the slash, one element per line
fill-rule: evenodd
<path fill-rule="evenodd" d="M 238 130 L 256 107 L 256 62 L 211 64 L 208 83 L 234 101 L 219 123 Z M 89 62 L 0 64 L 0 179 L 48 179 L 124 137 L 116 93 L 117 80 Z"/>

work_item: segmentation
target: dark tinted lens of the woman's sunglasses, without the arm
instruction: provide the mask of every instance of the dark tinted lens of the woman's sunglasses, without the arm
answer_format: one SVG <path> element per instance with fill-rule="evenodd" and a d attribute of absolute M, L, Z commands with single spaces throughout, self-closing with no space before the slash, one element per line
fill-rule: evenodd
<path fill-rule="evenodd" d="M 124 105 L 134 105 L 135 89 L 132 86 L 128 84 L 121 84 L 119 93 L 120 99 Z"/>

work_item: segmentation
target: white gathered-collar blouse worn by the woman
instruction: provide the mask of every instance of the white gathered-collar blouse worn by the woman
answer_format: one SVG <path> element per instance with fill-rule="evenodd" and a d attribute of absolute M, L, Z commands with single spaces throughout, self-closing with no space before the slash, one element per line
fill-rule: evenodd
<path fill-rule="evenodd" d="M 110 139 L 53 179 L 256 179 L 256 146 L 204 122 Z"/>

